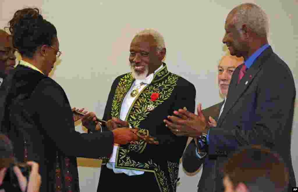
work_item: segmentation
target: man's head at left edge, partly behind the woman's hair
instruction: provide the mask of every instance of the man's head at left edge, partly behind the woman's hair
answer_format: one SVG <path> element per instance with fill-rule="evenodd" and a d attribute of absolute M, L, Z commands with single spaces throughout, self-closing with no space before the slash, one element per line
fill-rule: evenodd
<path fill-rule="evenodd" d="M 0 29 L 0 76 L 5 76 L 15 66 L 15 49 L 13 39 L 6 31 Z"/>

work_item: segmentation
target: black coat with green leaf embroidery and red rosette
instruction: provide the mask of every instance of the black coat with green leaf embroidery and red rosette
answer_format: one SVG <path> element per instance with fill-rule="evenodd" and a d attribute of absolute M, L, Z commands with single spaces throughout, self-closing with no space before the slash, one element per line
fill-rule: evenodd
<path fill-rule="evenodd" d="M 133 82 L 134 78 L 131 73 L 115 79 L 108 96 L 103 119 L 119 117 L 122 101 Z M 159 97 L 151 101 L 150 96 L 153 92 L 159 93 Z M 154 106 L 152 111 L 149 109 L 150 105 Z M 116 158 L 116 168 L 152 172 L 152 174 L 143 174 L 140 177 L 143 177 L 143 182 L 147 180 L 146 175 L 150 176 L 148 180 L 155 178 L 159 188 L 153 189 L 154 191 L 176 191 L 179 159 L 183 154 L 187 137 L 174 135 L 165 127 L 163 120 L 167 118 L 167 115 L 173 114 L 174 110 L 183 107 L 194 112 L 195 87 L 179 75 L 170 73 L 166 65 L 163 64 L 163 68 L 154 75 L 152 82 L 135 99 L 125 119 L 130 125 L 142 128 L 146 133 L 156 137 L 159 140 L 159 145 L 147 144 L 144 141 L 121 145 Z M 115 180 L 117 184 L 117 178 L 123 179 L 125 176 L 123 175 L 103 175 L 100 177 L 98 187 L 102 186 L 101 183 L 110 180 Z M 129 183 L 136 181 L 134 180 L 136 176 L 127 176 L 126 178 Z M 143 186 L 143 184 L 139 185 Z M 156 186 L 158 187 L 158 185 Z M 121 186 L 115 185 L 114 187 L 115 191 L 117 191 L 116 187 L 121 189 Z M 134 190 L 140 190 L 136 184 L 134 188 L 129 189 L 129 191 Z"/>

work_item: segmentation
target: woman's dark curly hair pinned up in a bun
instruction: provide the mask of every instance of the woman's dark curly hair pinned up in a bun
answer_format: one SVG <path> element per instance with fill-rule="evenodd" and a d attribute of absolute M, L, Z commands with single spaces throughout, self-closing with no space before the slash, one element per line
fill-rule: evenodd
<path fill-rule="evenodd" d="M 46 21 L 37 8 L 17 10 L 8 22 L 13 35 L 13 46 L 22 56 L 32 58 L 42 45 L 52 45 L 57 37 L 55 26 Z"/>

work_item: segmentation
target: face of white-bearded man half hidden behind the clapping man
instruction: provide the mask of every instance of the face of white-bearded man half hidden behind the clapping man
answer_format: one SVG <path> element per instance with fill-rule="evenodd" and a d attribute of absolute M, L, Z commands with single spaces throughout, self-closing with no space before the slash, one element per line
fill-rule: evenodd
<path fill-rule="evenodd" d="M 226 97 L 234 70 L 244 62 L 243 57 L 223 56 L 218 64 L 219 91 Z"/>

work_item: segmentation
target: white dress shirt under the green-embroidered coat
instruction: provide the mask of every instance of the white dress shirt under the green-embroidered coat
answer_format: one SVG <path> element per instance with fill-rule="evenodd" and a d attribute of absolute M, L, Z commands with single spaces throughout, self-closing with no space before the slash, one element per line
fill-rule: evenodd
<path fill-rule="evenodd" d="M 122 105 L 121 105 L 121 109 L 120 109 L 120 116 L 119 119 L 125 121 L 127 113 L 129 111 L 129 108 L 131 107 L 132 103 L 134 102 L 134 100 L 139 96 L 136 95 L 136 97 L 131 97 L 130 94 L 131 92 L 136 89 L 137 87 L 139 88 L 138 91 L 139 93 L 142 92 L 142 90 L 151 83 L 151 81 L 153 80 L 153 76 L 156 72 L 158 72 L 160 69 L 162 69 L 162 65 L 154 71 L 154 73 L 151 73 L 150 75 L 148 75 L 145 79 L 136 79 L 134 81 L 134 83 L 132 84 L 131 88 L 128 90 L 128 92 L 126 93 L 123 101 L 122 101 Z M 143 85 L 141 85 L 141 83 L 145 83 Z M 129 176 L 132 175 L 141 175 L 144 174 L 144 171 L 136 171 L 136 170 L 130 170 L 130 169 L 117 169 L 115 168 L 115 161 L 116 161 L 116 155 L 117 155 L 117 149 L 118 149 L 119 145 L 114 143 L 114 148 L 113 148 L 113 153 L 110 157 L 109 162 L 106 164 L 108 169 L 113 169 L 114 173 L 125 173 Z"/>

